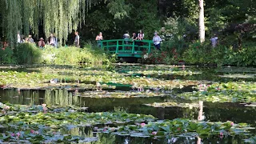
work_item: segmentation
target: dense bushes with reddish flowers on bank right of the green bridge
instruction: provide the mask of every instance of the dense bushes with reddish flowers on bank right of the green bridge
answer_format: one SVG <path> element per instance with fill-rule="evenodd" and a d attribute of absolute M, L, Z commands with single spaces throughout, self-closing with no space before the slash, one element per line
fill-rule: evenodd
<path fill-rule="evenodd" d="M 152 50 L 147 55 L 148 62 L 177 64 L 216 64 L 218 66 L 256 66 L 256 45 L 255 43 L 245 44 L 244 47 L 234 50 L 218 45 L 213 48 L 210 43 L 200 42 L 165 42 L 162 51 Z"/>

